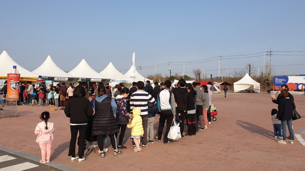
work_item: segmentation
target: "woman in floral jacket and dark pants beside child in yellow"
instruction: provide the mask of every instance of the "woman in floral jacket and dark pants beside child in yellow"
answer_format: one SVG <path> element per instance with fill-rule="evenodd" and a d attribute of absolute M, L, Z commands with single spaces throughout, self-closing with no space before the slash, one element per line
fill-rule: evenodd
<path fill-rule="evenodd" d="M 127 148 L 123 146 L 122 143 L 127 124 L 131 122 L 131 118 L 127 113 L 127 101 L 126 101 L 126 97 L 129 96 L 129 89 L 121 89 L 120 91 L 121 91 L 121 95 L 117 95 L 117 97 L 114 99 L 114 101 L 117 103 L 117 113 L 116 113 L 117 125 L 119 129 L 121 129 L 119 145 L 118 145 L 119 150 Z M 117 134 L 115 134 L 115 136 L 117 137 Z"/>

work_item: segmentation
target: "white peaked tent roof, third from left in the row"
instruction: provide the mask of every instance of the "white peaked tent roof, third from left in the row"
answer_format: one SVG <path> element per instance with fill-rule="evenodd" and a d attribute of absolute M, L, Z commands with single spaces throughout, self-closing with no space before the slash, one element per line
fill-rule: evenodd
<path fill-rule="evenodd" d="M 74 69 L 72 69 L 72 71 L 68 72 L 68 74 L 80 78 L 107 79 L 107 77 L 92 69 L 85 59 L 82 59 L 81 62 Z"/>

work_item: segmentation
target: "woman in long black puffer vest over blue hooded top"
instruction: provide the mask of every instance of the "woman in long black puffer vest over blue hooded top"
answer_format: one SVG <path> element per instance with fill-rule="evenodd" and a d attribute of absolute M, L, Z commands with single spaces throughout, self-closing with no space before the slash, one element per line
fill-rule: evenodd
<path fill-rule="evenodd" d="M 95 115 L 92 125 L 92 136 L 97 136 L 97 142 L 101 151 L 100 156 L 105 157 L 103 138 L 108 135 L 111 145 L 114 149 L 114 156 L 121 155 L 122 152 L 118 150 L 117 139 L 114 134 L 119 133 L 117 120 L 114 114 L 117 111 L 117 104 L 114 100 L 107 96 L 106 88 L 99 86 L 98 96 L 94 100 Z"/>

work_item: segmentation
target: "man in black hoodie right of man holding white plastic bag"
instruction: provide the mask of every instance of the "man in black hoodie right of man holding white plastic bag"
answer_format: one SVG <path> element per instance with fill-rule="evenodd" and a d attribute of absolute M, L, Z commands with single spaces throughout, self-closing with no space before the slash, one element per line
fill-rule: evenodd
<path fill-rule="evenodd" d="M 176 112 L 179 113 L 179 118 L 181 119 L 180 123 L 180 133 L 181 138 L 184 137 L 183 131 L 184 131 L 184 119 L 185 119 L 185 113 L 186 113 L 186 107 L 187 107 L 187 97 L 188 97 L 188 90 L 185 87 L 185 80 L 180 79 L 178 81 L 178 87 L 174 89 L 174 96 L 175 96 L 175 102 L 177 103 Z"/>

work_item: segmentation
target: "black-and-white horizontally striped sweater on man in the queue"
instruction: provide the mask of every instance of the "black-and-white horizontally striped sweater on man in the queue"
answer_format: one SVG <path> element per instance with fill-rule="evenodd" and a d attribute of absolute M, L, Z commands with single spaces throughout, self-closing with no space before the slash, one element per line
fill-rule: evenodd
<path fill-rule="evenodd" d="M 135 107 L 139 107 L 141 116 L 148 116 L 148 102 L 156 104 L 156 99 L 144 90 L 137 90 L 130 96 L 130 111 Z"/>

